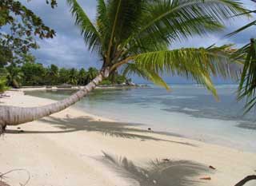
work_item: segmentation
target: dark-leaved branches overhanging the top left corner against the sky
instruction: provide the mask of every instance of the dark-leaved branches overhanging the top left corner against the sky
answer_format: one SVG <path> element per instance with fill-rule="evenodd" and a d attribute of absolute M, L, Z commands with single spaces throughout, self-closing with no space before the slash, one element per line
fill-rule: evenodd
<path fill-rule="evenodd" d="M 54 38 L 54 30 L 19 1 L 0 1 L 0 15 L 0 67 L 26 61 L 30 49 L 38 49 L 36 37 Z"/>

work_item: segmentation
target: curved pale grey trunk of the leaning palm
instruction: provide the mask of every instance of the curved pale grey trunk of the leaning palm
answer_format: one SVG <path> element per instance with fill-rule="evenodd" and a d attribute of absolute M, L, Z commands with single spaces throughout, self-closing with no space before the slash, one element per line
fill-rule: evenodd
<path fill-rule="evenodd" d="M 6 125 L 20 125 L 26 122 L 38 120 L 42 117 L 47 117 L 52 113 L 58 113 L 66 109 L 70 105 L 78 102 L 85 97 L 91 90 L 109 76 L 109 69 L 103 69 L 97 77 L 94 78 L 84 89 L 79 90 L 70 97 L 56 103 L 41 107 L 22 108 L 14 106 L 0 106 L 0 133 L 5 129 Z"/>

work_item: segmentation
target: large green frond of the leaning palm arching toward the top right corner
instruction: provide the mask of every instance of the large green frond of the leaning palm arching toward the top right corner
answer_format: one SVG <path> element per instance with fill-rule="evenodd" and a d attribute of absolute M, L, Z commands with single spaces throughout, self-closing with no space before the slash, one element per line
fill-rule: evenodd
<path fill-rule="evenodd" d="M 124 45 L 150 34 L 151 40 L 171 44 L 194 34 L 220 30 L 223 22 L 247 10 L 233 0 L 164 0 L 148 2 L 140 27 L 131 32 Z"/>

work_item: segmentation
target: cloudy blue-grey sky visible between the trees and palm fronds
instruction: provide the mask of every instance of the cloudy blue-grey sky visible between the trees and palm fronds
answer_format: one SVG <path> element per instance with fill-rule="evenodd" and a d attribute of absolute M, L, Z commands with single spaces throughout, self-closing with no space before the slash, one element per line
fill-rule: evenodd
<path fill-rule="evenodd" d="M 44 0 L 27 0 L 20 1 L 26 6 L 30 7 L 35 14 L 42 18 L 46 26 L 56 31 L 56 37 L 53 39 L 38 39 L 40 49 L 34 51 L 37 61 L 43 65 L 58 65 L 59 67 L 66 68 L 88 68 L 95 66 L 100 68 L 101 60 L 95 53 L 90 53 L 83 42 L 77 26 L 74 26 L 74 18 L 70 14 L 70 7 L 67 5 L 66 0 L 58 0 L 58 6 L 51 9 L 46 6 Z M 86 11 L 89 18 L 94 21 L 96 15 L 96 1 L 95 0 L 78 0 L 79 4 Z M 250 9 L 256 9 L 256 3 L 250 0 L 240 0 L 245 3 L 245 6 Z M 254 17 L 256 18 L 256 17 Z M 226 38 L 225 35 L 244 26 L 246 22 L 250 22 L 249 18 L 236 18 L 226 24 L 226 30 L 214 34 L 208 34 L 205 37 L 189 38 L 184 42 L 174 43 L 170 49 L 178 49 L 181 47 L 207 47 L 213 44 L 217 46 L 223 44 L 234 43 L 236 46 L 243 46 L 249 42 L 250 38 L 254 38 L 254 29 L 246 30 L 241 34 L 237 34 L 232 38 Z M 164 77 L 166 81 L 172 83 L 186 83 L 185 79 L 181 77 Z M 143 82 L 142 79 L 134 77 L 134 81 Z M 216 83 L 222 82 L 218 78 L 214 79 Z M 229 81 L 228 81 L 229 82 Z"/>

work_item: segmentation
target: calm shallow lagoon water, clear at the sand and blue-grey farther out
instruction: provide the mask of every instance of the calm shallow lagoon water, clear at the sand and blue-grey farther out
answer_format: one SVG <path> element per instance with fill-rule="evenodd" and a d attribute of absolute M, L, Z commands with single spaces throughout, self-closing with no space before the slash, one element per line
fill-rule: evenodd
<path fill-rule="evenodd" d="M 120 122 L 178 133 L 194 140 L 256 152 L 255 111 L 243 116 L 237 85 L 217 85 L 219 101 L 198 85 L 138 89 L 96 89 L 75 107 Z M 33 91 L 32 96 L 61 100 L 74 91 Z M 145 126 L 146 125 L 146 126 Z"/>

